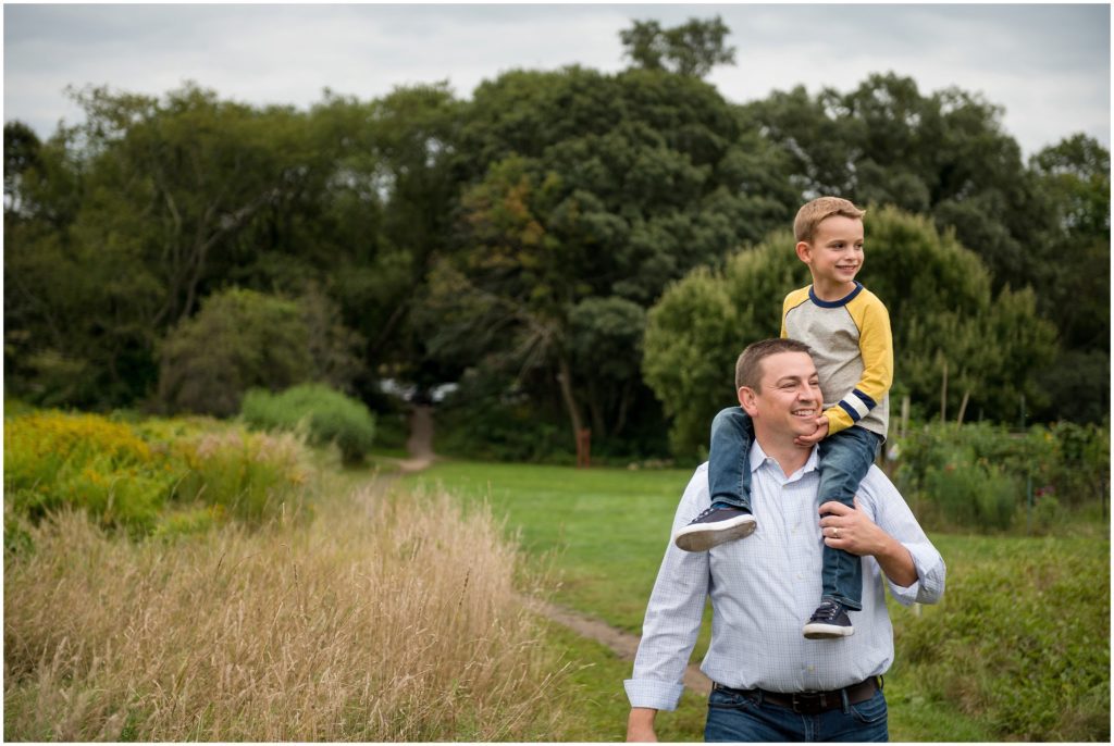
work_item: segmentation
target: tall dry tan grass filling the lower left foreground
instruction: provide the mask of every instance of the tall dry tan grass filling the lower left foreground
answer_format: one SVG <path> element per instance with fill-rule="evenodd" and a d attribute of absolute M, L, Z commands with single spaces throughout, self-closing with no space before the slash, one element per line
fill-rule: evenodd
<path fill-rule="evenodd" d="M 170 542 L 30 529 L 4 562 L 4 738 L 559 739 L 559 666 L 490 514 L 355 498 Z"/>

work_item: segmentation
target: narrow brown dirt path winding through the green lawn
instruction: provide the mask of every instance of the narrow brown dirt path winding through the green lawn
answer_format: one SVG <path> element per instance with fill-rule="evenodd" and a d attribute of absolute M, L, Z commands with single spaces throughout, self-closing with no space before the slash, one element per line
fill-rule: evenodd
<path fill-rule="evenodd" d="M 410 458 L 400 463 L 401 471 L 413 473 L 429 468 L 437 458 L 433 454 L 433 413 L 432 408 L 414 406 L 410 415 L 410 440 L 407 441 L 407 450 Z M 383 490 L 394 481 L 394 474 L 384 474 L 375 479 L 377 488 Z M 535 598 L 522 598 L 531 610 L 573 630 L 580 637 L 595 640 L 600 645 L 612 649 L 623 660 L 634 660 L 638 650 L 638 641 L 642 639 L 637 635 L 616 629 L 607 622 L 588 617 L 573 609 L 548 603 Z M 702 695 L 712 690 L 712 680 L 704 676 L 696 664 L 690 664 L 685 670 L 684 685 L 688 689 Z"/>

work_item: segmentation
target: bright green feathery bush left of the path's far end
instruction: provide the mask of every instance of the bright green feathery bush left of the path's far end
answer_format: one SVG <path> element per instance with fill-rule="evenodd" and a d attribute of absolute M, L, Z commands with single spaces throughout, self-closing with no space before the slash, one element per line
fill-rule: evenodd
<path fill-rule="evenodd" d="M 368 408 L 322 384 L 302 384 L 281 394 L 253 389 L 244 396 L 241 416 L 260 429 L 305 428 L 311 443 L 335 443 L 346 464 L 361 463 L 375 439 L 375 418 Z"/>

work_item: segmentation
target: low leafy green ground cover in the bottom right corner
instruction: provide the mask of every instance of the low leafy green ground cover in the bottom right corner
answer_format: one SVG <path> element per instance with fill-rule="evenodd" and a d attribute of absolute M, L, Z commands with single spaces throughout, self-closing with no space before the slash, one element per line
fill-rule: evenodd
<path fill-rule="evenodd" d="M 940 548 L 948 589 L 896 625 L 893 679 L 978 718 L 988 739 L 1110 740 L 1110 542 Z"/>

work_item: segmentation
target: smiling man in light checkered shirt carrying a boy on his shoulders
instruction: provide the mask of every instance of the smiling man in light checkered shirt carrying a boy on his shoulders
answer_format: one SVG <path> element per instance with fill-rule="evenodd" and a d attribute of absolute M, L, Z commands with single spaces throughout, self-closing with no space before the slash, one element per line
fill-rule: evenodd
<path fill-rule="evenodd" d="M 712 642 L 701 668 L 715 686 L 706 740 L 887 740 L 881 675 L 893 660 L 893 631 L 883 576 L 901 603 L 935 603 L 944 559 L 877 468 L 854 508 L 818 508 L 817 448 L 799 440 L 823 408 L 807 345 L 752 344 L 739 357 L 735 384 L 754 425 L 749 455 L 759 529 L 706 552 L 670 543 L 626 681 L 627 740 L 655 740 L 657 710 L 676 708 L 709 596 Z M 685 489 L 674 531 L 710 505 L 705 463 Z M 824 544 L 862 558 L 862 610 L 853 612 L 854 635 L 819 642 L 802 638 L 797 620 L 815 606 Z"/>

